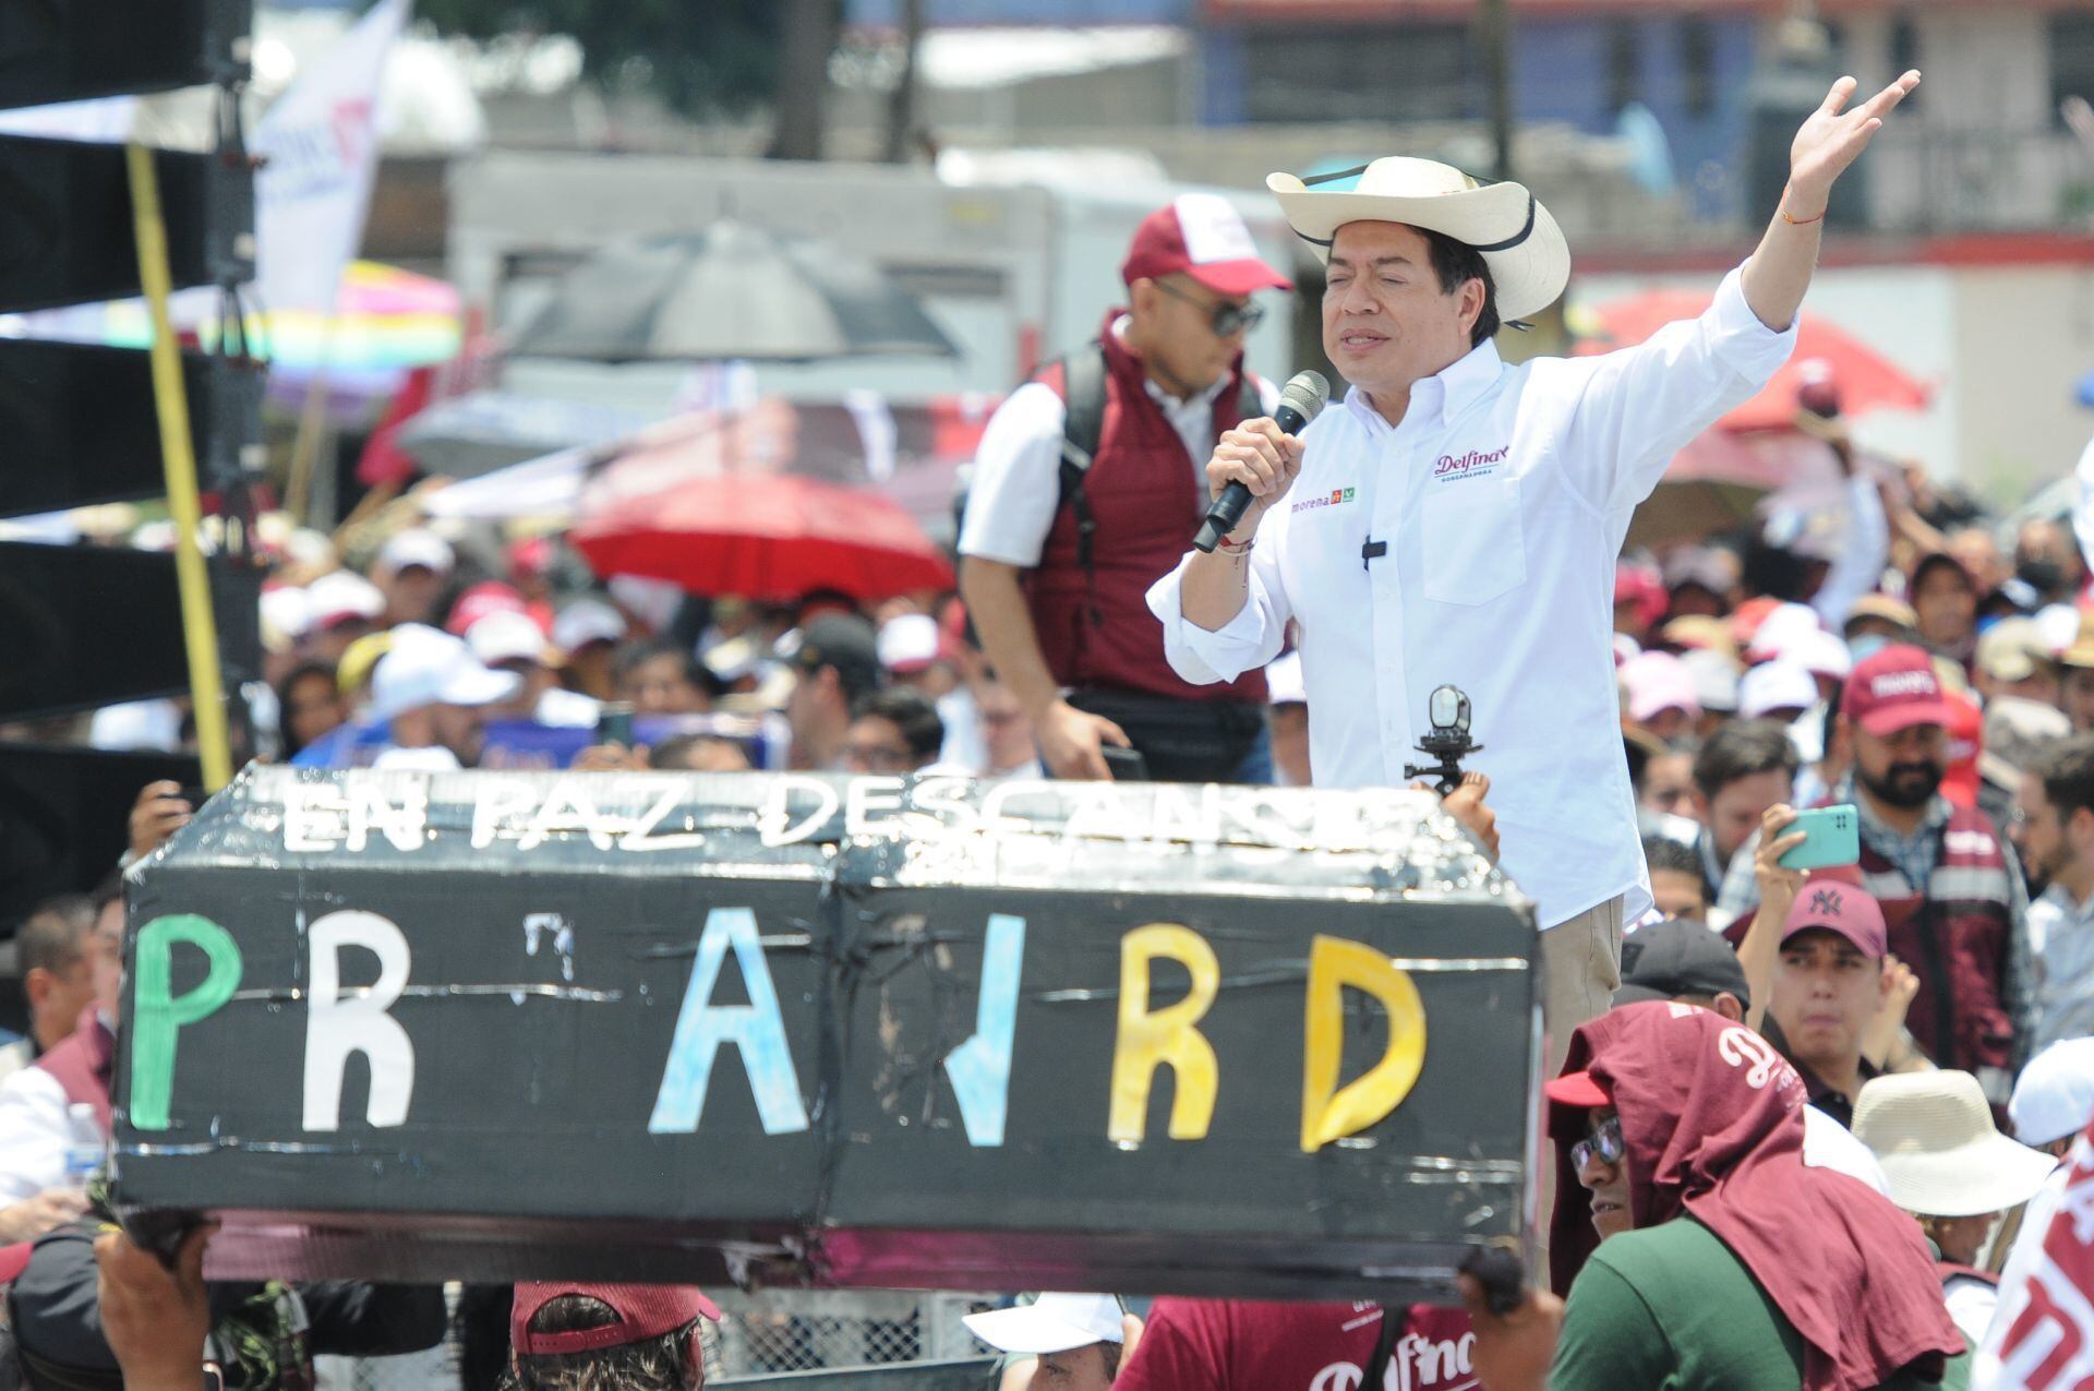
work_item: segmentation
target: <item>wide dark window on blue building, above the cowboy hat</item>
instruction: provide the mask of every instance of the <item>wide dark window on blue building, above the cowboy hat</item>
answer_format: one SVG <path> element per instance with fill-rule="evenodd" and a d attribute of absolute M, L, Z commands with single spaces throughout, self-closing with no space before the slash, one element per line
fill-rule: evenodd
<path fill-rule="evenodd" d="M 1250 29 L 1244 113 L 1302 124 L 1478 119 L 1478 65 L 1462 23 Z"/>

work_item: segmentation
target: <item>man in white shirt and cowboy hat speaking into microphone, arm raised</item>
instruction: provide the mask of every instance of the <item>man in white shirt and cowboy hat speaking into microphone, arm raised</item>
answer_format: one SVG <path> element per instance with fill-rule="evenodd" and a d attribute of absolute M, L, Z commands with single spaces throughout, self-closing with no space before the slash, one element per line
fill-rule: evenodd
<path fill-rule="evenodd" d="M 1326 251 L 1323 348 L 1353 390 L 1300 440 L 1269 419 L 1221 438 L 1208 486 L 1242 482 L 1252 507 L 1150 610 L 1189 681 L 1273 660 L 1298 624 L 1321 786 L 1401 783 L 1430 691 L 1470 696 L 1503 865 L 1545 930 L 1554 1056 L 1606 1010 L 1623 913 L 1650 905 L 1610 649 L 1629 517 L 1671 455 L 1788 358 L 1832 182 L 1914 86 L 1906 73 L 1845 111 L 1843 78 L 1709 310 L 1598 358 L 1506 367 L 1491 346 L 1499 316 L 1543 310 L 1568 279 L 1527 189 L 1401 157 L 1321 186 L 1267 178 Z"/>

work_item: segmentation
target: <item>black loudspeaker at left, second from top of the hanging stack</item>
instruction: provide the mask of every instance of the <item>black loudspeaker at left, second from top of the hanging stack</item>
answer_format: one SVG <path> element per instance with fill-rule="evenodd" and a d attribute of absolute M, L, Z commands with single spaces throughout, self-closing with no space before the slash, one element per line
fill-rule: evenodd
<path fill-rule="evenodd" d="M 157 151 L 153 161 L 174 287 L 251 281 L 255 209 L 245 157 Z M 0 310 L 136 293 L 124 147 L 0 138 Z"/>

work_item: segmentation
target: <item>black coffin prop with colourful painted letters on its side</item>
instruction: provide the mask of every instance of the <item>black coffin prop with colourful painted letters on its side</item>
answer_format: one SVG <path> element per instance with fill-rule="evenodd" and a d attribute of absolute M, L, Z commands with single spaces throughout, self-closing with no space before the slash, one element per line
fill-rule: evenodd
<path fill-rule="evenodd" d="M 255 769 L 130 909 L 117 1196 L 228 1276 L 1399 1301 L 1527 1236 L 1533 913 L 1426 794 Z"/>

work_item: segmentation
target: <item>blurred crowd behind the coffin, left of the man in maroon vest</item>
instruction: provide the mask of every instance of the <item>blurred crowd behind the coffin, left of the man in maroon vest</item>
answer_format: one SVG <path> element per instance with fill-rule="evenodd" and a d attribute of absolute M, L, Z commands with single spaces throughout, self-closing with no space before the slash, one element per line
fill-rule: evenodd
<path fill-rule="evenodd" d="M 599 582 L 557 538 L 444 538 L 419 524 L 360 566 L 316 532 L 291 540 L 262 595 L 264 681 L 235 702 L 237 763 L 1039 769 L 1022 710 L 949 595 L 693 597 Z M 105 708 L 88 742 L 195 748 L 184 704 Z M 184 811 L 159 804 L 149 825 L 168 832 Z"/>

